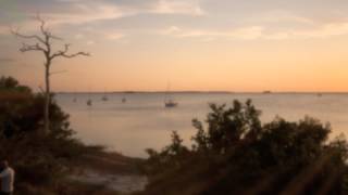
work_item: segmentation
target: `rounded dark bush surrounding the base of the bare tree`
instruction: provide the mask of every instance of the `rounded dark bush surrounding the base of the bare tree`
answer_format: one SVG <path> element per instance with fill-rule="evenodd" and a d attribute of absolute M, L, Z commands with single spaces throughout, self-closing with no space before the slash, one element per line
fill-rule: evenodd
<path fill-rule="evenodd" d="M 54 183 L 84 148 L 72 136 L 69 115 L 52 101 L 50 132 L 45 133 L 44 95 L 11 77 L 0 78 L 0 158 L 15 168 L 20 185 Z"/>

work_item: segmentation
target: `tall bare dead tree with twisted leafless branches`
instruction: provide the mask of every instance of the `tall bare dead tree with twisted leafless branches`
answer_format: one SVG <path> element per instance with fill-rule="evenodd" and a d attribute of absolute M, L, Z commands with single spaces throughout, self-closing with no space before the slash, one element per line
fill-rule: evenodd
<path fill-rule="evenodd" d="M 18 32 L 18 30 L 11 29 L 11 32 L 21 39 L 33 40 L 35 43 L 23 42 L 20 51 L 25 53 L 29 51 L 41 52 L 45 56 L 45 109 L 44 109 L 44 130 L 45 132 L 49 131 L 50 128 L 50 102 L 51 102 L 51 89 L 50 89 L 50 76 L 55 73 L 51 73 L 50 68 L 53 60 L 58 57 L 73 58 L 78 55 L 89 56 L 89 53 L 77 52 L 69 53 L 70 44 L 64 44 L 62 50 L 52 51 L 52 40 L 62 40 L 59 37 L 55 37 L 51 31 L 46 27 L 46 22 L 39 16 L 36 16 L 36 20 L 40 23 L 40 32 L 38 35 L 24 35 Z"/>

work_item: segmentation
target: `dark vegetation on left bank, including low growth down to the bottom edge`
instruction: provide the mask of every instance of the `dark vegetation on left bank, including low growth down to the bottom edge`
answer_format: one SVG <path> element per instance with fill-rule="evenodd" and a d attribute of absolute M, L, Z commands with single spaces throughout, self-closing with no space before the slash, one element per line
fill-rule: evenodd
<path fill-rule="evenodd" d="M 101 154 L 103 147 L 74 139 L 69 115 L 51 98 L 51 128 L 46 133 L 45 94 L 34 93 L 12 77 L 0 78 L 0 158 L 16 171 L 15 194 L 110 194 L 102 186 L 67 180 L 74 168 L 91 162 L 84 155 Z"/>

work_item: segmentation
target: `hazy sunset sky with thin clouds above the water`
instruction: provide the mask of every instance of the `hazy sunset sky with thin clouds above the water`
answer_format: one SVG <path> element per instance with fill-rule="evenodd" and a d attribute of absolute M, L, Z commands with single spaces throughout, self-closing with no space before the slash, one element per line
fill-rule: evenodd
<path fill-rule="evenodd" d="M 54 91 L 348 91 L 347 0 L 0 0 L 0 75 L 39 89 L 41 53 L 21 53 L 10 29 L 54 50 Z"/>

